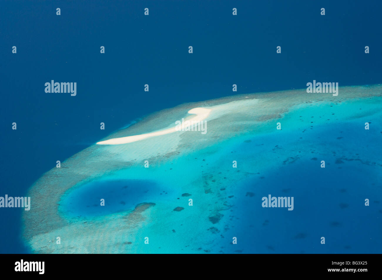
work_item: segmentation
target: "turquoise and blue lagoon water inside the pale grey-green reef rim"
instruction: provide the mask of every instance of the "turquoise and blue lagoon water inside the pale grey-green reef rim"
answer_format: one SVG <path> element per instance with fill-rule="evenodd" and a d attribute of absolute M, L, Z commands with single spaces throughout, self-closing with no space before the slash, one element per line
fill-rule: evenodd
<path fill-rule="evenodd" d="M 52 235 L 71 238 L 62 252 L 84 250 L 83 240 L 70 237 L 76 229 L 89 234 L 97 253 L 379 253 L 380 108 L 381 97 L 303 103 L 238 135 L 231 132 L 246 123 L 241 115 L 219 130 L 212 124 L 213 145 L 183 144 L 181 153 L 150 158 L 149 168 L 144 157 L 121 163 L 66 191 L 59 212 L 68 229 Z M 132 146 L 114 147 L 115 161 L 133 153 Z M 293 196 L 293 211 L 263 208 L 268 195 Z M 138 211 L 142 203 L 151 206 Z"/>

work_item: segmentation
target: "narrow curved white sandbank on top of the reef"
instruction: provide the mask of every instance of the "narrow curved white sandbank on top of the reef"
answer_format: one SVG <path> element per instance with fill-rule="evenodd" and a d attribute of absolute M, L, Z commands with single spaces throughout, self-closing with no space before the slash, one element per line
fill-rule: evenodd
<path fill-rule="evenodd" d="M 189 110 L 187 113 L 189 114 L 196 114 L 196 116 L 192 117 L 191 119 L 188 119 L 189 125 L 186 127 L 191 126 L 193 122 L 200 122 L 203 121 L 208 117 L 212 109 L 207 109 L 207 108 L 193 108 Z M 153 136 L 159 136 L 159 135 L 165 135 L 169 133 L 173 133 L 178 131 L 177 127 L 171 127 L 169 129 L 164 129 L 164 130 L 159 130 L 157 132 L 150 132 L 150 133 L 145 133 L 145 134 L 139 134 L 139 135 L 132 135 L 132 136 L 127 136 L 127 137 L 119 137 L 119 138 L 112 138 L 109 140 L 105 141 L 100 141 L 97 142 L 98 145 L 119 145 L 119 144 L 126 144 L 126 143 L 131 143 L 131 142 L 136 142 L 139 140 L 143 140 L 149 137 Z"/>

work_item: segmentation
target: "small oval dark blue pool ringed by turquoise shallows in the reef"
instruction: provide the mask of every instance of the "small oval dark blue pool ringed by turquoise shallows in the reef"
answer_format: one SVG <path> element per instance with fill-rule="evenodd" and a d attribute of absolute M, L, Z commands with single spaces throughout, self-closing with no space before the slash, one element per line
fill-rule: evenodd
<path fill-rule="evenodd" d="M 96 180 L 66 193 L 60 212 L 67 217 L 103 216 L 134 209 L 142 202 L 155 202 L 164 193 L 149 180 Z M 101 206 L 101 199 L 105 206 Z"/>

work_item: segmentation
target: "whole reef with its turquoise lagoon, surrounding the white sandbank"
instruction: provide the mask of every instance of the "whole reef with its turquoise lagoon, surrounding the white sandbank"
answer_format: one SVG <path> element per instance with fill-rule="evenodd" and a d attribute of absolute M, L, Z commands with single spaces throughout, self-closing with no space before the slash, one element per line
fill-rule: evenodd
<path fill-rule="evenodd" d="M 206 135 L 176 132 L 93 145 L 65 161 L 66 169 L 44 174 L 30 192 L 45 208 L 37 205 L 24 215 L 35 225 L 27 223 L 26 237 L 32 249 L 47 253 L 379 252 L 380 92 L 372 86 L 340 88 L 338 97 L 303 90 L 264 93 L 155 113 L 107 139 L 169 127 L 197 106 L 214 109 Z M 364 129 L 365 122 L 371 129 Z M 121 199 L 103 193 L 110 180 L 120 182 L 113 189 L 122 190 L 121 198 L 125 180 L 150 183 L 135 185 Z M 53 184 L 57 194 L 49 191 Z M 75 196 L 68 200 L 70 194 Z M 269 194 L 293 196 L 293 211 L 262 208 L 261 198 Z M 110 195 L 106 202 L 113 206 L 101 211 L 100 195 Z M 364 206 L 365 198 L 370 206 Z M 78 207 L 71 209 L 65 200 Z M 134 208 L 135 203 L 146 204 Z M 91 213 L 92 205 L 97 207 Z M 48 242 L 56 236 L 61 245 Z"/>

